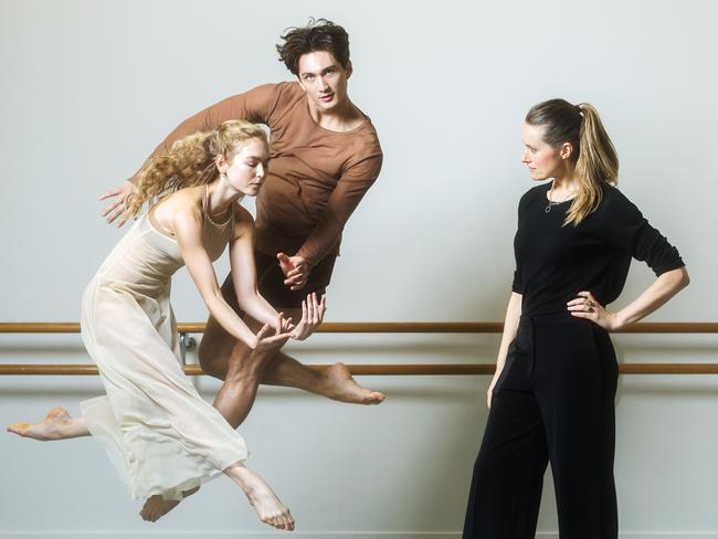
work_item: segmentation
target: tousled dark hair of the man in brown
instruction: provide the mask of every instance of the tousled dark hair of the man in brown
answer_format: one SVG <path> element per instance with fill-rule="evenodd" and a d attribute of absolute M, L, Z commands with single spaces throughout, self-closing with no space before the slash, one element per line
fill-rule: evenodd
<path fill-rule="evenodd" d="M 306 27 L 288 28 L 277 45 L 279 62 L 293 74 L 299 75 L 299 57 L 315 51 L 330 52 L 342 68 L 349 63 L 349 34 L 339 24 L 326 19 L 309 19 Z"/>

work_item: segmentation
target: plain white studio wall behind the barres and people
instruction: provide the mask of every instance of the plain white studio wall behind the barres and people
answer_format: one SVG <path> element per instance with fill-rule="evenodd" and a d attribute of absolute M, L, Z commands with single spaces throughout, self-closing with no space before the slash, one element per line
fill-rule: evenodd
<path fill-rule="evenodd" d="M 179 120 L 286 80 L 274 44 L 308 15 L 351 36 L 353 101 L 386 154 L 351 218 L 332 321 L 499 320 L 516 203 L 530 187 L 521 119 L 562 96 L 601 112 L 621 187 L 675 243 L 691 286 L 651 320 L 716 321 L 718 6 L 704 1 L 0 0 L 0 320 L 77 320 L 80 295 L 123 231 L 96 197 Z M 224 273 L 226 264 L 218 264 Z M 625 305 L 652 281 L 634 264 Z M 180 320 L 205 309 L 187 275 Z M 716 336 L 620 336 L 625 361 L 716 361 Z M 316 336 L 306 361 L 492 361 L 497 336 Z M 3 362 L 86 360 L 76 336 L 1 336 Z M 295 537 L 456 537 L 486 419 L 487 378 L 365 378 L 363 409 L 266 389 L 241 432 L 298 522 Z M 210 399 L 218 385 L 201 380 Z M 623 377 L 616 480 L 626 537 L 718 537 L 715 377 Z M 95 378 L 0 379 L 0 423 L 101 391 Z M 157 525 L 135 516 L 92 440 L 0 435 L 0 536 L 255 537 L 219 479 Z M 556 537 L 550 480 L 539 529 Z"/>

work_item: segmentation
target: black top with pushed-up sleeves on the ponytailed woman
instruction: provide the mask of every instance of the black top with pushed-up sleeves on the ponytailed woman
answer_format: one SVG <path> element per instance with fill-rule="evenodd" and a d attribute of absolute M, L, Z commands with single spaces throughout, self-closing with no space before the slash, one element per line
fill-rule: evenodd
<path fill-rule="evenodd" d="M 563 225 L 570 201 L 546 212 L 549 187 L 530 189 L 518 204 L 513 289 L 522 295 L 522 315 L 566 313 L 567 302 L 581 290 L 601 305 L 612 303 L 632 257 L 646 262 L 656 276 L 684 266 L 678 250 L 616 188 L 606 187 L 599 208 L 574 226 Z"/>

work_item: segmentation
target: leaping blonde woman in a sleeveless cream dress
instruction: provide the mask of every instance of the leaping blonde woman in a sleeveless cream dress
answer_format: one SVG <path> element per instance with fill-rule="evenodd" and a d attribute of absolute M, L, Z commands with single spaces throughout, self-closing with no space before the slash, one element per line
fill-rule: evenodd
<path fill-rule="evenodd" d="M 107 395 L 83 402 L 81 418 L 53 409 L 42 423 L 8 427 L 36 440 L 96 436 L 133 498 L 148 500 L 147 520 L 222 472 L 244 490 L 262 521 L 294 529 L 289 510 L 243 464 L 242 437 L 184 376 L 169 304 L 171 276 L 187 265 L 212 316 L 252 349 L 250 361 L 271 357 L 288 338 L 305 339 L 321 321 L 326 304 L 316 295 L 303 304 L 294 326 L 256 289 L 254 223 L 236 202 L 257 193 L 267 159 L 264 131 L 230 120 L 178 140 L 148 162 L 130 211 L 160 200 L 113 250 L 83 297 L 82 337 Z M 265 325 L 256 335 L 223 299 L 212 267 L 228 244 L 239 304 Z"/>

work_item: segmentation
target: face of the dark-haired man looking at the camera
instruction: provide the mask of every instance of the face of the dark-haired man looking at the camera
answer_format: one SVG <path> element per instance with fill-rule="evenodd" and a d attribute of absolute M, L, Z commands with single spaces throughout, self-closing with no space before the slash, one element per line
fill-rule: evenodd
<path fill-rule="evenodd" d="M 347 101 L 347 80 L 351 76 L 351 62 L 347 67 L 327 51 L 315 51 L 299 56 L 299 85 L 306 92 L 309 105 L 330 113 Z"/>

